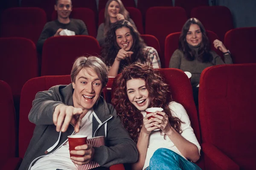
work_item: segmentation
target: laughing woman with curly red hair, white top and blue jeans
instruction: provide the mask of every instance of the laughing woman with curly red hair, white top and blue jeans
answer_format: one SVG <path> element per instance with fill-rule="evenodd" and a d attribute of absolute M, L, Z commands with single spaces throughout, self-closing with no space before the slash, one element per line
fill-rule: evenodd
<path fill-rule="evenodd" d="M 188 161 L 197 161 L 201 150 L 189 116 L 182 105 L 172 100 L 159 72 L 135 62 L 124 68 L 116 82 L 112 104 L 139 152 L 132 169 L 200 170 Z M 146 114 L 145 109 L 151 107 L 163 111 Z M 148 119 L 151 116 L 154 118 Z"/>

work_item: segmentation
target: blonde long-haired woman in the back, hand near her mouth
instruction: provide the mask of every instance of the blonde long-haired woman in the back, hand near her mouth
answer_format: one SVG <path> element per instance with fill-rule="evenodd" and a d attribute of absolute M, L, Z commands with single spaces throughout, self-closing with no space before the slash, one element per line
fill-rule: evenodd
<path fill-rule="evenodd" d="M 105 6 L 105 22 L 99 25 L 96 37 L 100 46 L 105 43 L 105 37 L 111 25 L 119 20 L 128 20 L 136 28 L 134 21 L 129 17 L 129 12 L 125 9 L 122 1 L 108 0 Z"/>

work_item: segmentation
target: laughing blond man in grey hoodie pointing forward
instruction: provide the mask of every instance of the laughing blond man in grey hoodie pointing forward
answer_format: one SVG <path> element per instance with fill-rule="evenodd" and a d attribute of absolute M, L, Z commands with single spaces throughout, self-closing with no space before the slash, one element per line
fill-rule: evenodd
<path fill-rule="evenodd" d="M 70 85 L 38 92 L 29 120 L 36 127 L 20 170 L 76 170 L 97 162 L 101 167 L 137 161 L 136 144 L 122 127 L 116 110 L 100 96 L 108 82 L 107 67 L 98 57 L 79 57 Z M 106 145 L 84 144 L 69 150 L 69 135 L 105 136 Z M 70 153 L 82 157 L 70 157 Z"/>

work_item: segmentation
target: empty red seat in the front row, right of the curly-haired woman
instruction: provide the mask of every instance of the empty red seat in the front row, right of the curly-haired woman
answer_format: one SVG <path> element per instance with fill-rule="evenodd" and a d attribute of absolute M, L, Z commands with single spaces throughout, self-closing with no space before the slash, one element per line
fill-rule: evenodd
<path fill-rule="evenodd" d="M 238 164 L 241 170 L 256 167 L 255 73 L 256 64 L 237 64 L 212 66 L 201 74 L 199 122 L 203 147 L 207 144 L 203 149 L 208 157 L 207 170 L 215 170 L 211 162 L 219 163 L 218 166 Z M 223 154 L 211 151 L 211 145 Z M 228 159 L 216 160 L 225 155 L 233 163 Z"/>

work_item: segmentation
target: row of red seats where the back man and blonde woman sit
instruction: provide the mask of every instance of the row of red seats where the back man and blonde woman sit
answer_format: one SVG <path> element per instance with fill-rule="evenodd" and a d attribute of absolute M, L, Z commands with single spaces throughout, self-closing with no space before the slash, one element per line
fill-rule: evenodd
<path fill-rule="evenodd" d="M 180 7 L 152 7 L 146 13 L 144 30 L 141 11 L 134 7 L 127 7 L 127 10 L 140 34 L 151 34 L 157 37 L 162 52 L 166 36 L 181 31 L 188 19 L 185 10 Z M 99 12 L 98 25 L 105 20 L 104 12 L 105 9 Z M 96 16 L 91 9 L 73 8 L 70 17 L 83 20 L 89 35 L 96 37 L 98 25 L 96 26 Z M 205 28 L 215 32 L 221 41 L 224 40 L 225 33 L 233 28 L 231 12 L 224 6 L 193 8 L 191 17 L 201 20 Z M 219 20 L 220 17 L 221 20 Z M 51 20 L 56 19 L 57 13 L 54 11 L 51 14 Z M 36 43 L 46 22 L 46 14 L 40 8 L 9 8 L 2 15 L 0 37 L 25 37 Z"/>

